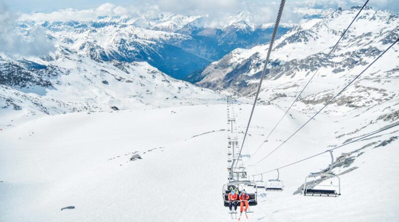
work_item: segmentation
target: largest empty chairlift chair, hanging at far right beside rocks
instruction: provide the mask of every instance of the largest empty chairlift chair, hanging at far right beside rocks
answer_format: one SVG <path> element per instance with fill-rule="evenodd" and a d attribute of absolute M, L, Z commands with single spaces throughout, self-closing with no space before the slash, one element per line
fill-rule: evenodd
<path fill-rule="evenodd" d="M 333 152 L 331 150 L 329 152 L 331 155 L 329 171 L 325 173 L 310 173 L 305 178 L 305 184 L 303 185 L 302 192 L 304 196 L 338 197 L 341 195 L 340 178 L 331 173 L 334 164 Z M 311 178 L 312 181 L 308 182 L 309 178 Z"/>

